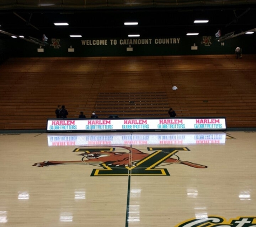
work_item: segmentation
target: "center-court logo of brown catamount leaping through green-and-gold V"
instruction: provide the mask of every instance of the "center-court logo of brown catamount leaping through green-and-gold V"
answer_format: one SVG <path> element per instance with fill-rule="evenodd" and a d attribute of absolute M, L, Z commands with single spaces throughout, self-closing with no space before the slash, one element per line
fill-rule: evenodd
<path fill-rule="evenodd" d="M 73 152 L 82 156 L 74 161 L 44 161 L 33 166 L 46 167 L 67 164 L 87 164 L 93 169 L 91 176 L 170 175 L 161 165 L 182 164 L 194 168 L 207 168 L 200 164 L 182 161 L 176 153 L 189 151 L 187 147 L 147 147 L 148 153 L 128 146 L 83 146 Z M 159 168 L 156 168 L 159 167 Z"/>

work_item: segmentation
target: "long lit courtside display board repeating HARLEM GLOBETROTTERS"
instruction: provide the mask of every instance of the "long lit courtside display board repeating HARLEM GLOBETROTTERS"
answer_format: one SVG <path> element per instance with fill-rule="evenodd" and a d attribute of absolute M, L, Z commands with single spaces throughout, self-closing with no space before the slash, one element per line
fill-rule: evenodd
<path fill-rule="evenodd" d="M 48 119 L 47 132 L 101 131 L 223 131 L 225 117 L 211 118 L 114 118 Z"/>

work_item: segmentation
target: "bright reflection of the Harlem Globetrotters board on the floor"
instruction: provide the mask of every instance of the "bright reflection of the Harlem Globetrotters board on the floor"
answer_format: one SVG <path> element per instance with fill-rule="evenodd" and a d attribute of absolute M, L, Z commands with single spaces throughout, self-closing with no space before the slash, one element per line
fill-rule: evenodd
<path fill-rule="evenodd" d="M 224 132 L 48 134 L 49 146 L 225 144 Z"/>

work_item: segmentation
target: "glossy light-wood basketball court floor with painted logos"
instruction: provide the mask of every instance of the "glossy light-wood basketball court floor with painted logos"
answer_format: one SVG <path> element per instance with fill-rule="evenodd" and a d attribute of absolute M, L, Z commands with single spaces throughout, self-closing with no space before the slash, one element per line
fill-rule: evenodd
<path fill-rule="evenodd" d="M 256 132 L 0 134 L 0 226 L 256 226 Z"/>

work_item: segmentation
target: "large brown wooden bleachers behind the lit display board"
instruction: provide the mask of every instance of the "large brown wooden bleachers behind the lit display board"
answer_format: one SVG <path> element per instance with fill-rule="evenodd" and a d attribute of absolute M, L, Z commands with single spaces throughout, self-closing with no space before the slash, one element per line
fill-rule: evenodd
<path fill-rule="evenodd" d="M 12 58 L 0 65 L 0 130 L 45 129 L 68 118 L 220 117 L 256 126 L 256 55 Z M 172 90 L 177 86 L 178 90 Z"/>

